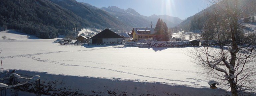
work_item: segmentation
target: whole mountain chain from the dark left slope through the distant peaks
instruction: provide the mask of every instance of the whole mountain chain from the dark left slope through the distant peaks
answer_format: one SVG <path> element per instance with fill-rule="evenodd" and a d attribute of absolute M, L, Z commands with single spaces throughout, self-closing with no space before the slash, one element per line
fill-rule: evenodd
<path fill-rule="evenodd" d="M 154 27 L 158 18 L 168 27 L 182 22 L 177 17 L 147 17 L 132 8 L 97 8 L 75 0 L 1 0 L 0 5 L 0 27 L 7 26 L 39 38 L 74 35 L 83 28 L 130 32 L 133 27 L 150 27 L 151 22 Z"/>

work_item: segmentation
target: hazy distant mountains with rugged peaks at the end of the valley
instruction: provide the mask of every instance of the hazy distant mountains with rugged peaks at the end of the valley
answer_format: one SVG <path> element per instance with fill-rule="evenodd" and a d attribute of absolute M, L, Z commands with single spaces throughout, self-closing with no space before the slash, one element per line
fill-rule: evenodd
<path fill-rule="evenodd" d="M 157 20 L 163 19 L 163 21 L 167 24 L 168 27 L 174 27 L 182 22 L 182 20 L 178 17 L 171 17 L 168 15 L 152 15 L 152 16 L 143 16 L 139 14 L 136 10 L 132 8 L 128 8 L 126 10 L 120 9 L 116 6 L 109 6 L 101 8 L 111 15 L 115 16 L 121 22 L 132 26 L 132 27 L 150 27 L 152 22 L 153 25 L 156 25 Z M 154 26 L 153 26 L 154 27 Z"/>

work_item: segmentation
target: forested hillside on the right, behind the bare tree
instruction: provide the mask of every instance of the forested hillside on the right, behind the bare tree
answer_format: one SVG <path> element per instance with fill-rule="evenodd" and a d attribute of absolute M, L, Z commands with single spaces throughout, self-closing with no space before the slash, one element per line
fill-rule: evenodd
<path fill-rule="evenodd" d="M 256 14 L 256 6 L 255 6 L 256 2 L 252 2 L 252 1 L 255 1 L 255 0 L 239 0 L 238 9 L 246 10 L 246 11 L 242 12 L 242 14 L 240 15 L 239 18 L 244 18 L 246 16 L 252 16 L 252 15 Z M 213 15 L 215 13 L 218 15 L 221 14 L 221 13 L 218 13 L 218 10 L 222 10 L 222 9 L 219 9 L 219 6 L 214 4 L 208 8 L 200 11 L 199 13 L 197 13 L 191 17 L 188 17 L 186 20 L 181 22 L 179 25 L 177 25 L 176 27 L 173 27 L 172 30 L 173 30 L 173 32 L 179 32 L 179 31 L 183 31 L 183 30 L 192 31 L 192 30 L 201 29 L 203 27 L 203 23 L 205 22 L 205 20 L 208 20 L 211 15 Z"/>

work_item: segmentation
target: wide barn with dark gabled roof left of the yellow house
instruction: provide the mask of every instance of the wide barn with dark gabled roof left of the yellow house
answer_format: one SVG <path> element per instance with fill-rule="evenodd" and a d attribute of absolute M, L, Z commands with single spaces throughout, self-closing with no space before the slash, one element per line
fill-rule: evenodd
<path fill-rule="evenodd" d="M 90 38 L 91 44 L 123 44 L 124 37 L 106 28 Z"/>

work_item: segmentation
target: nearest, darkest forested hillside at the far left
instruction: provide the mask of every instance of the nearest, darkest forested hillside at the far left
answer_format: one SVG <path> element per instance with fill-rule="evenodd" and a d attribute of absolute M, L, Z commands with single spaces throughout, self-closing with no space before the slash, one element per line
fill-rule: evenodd
<path fill-rule="evenodd" d="M 39 38 L 72 34 L 89 22 L 48 0 L 1 0 L 0 26 L 16 29 Z"/>

